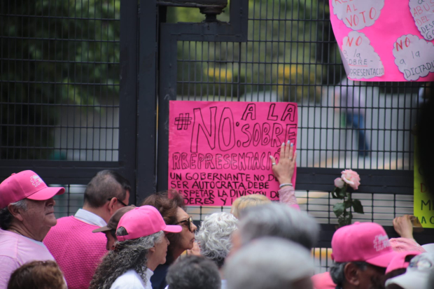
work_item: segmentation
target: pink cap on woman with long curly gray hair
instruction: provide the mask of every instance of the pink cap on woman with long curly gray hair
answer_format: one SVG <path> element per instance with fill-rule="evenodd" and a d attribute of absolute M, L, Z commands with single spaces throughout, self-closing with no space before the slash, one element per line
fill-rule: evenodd
<path fill-rule="evenodd" d="M 119 220 L 118 228 L 125 227 L 127 235 L 116 236 L 118 241 L 132 240 L 146 237 L 156 232 L 179 233 L 182 227 L 179 225 L 166 225 L 160 212 L 153 206 L 139 206 L 125 213 Z"/>

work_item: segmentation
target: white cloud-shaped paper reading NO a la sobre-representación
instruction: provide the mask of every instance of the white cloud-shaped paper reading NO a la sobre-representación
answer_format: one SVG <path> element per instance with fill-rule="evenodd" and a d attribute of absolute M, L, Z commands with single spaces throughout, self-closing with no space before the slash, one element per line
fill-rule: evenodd
<path fill-rule="evenodd" d="M 384 66 L 365 34 L 351 31 L 344 37 L 342 53 L 349 78 L 368 79 L 384 75 Z"/>

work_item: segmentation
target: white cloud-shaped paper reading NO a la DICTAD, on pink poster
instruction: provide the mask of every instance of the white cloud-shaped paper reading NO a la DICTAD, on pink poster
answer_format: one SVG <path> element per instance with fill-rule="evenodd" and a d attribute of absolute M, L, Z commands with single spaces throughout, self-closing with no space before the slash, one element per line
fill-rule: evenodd
<path fill-rule="evenodd" d="M 418 36 L 403 35 L 393 43 L 393 56 L 406 80 L 418 80 L 434 72 L 434 45 Z"/>

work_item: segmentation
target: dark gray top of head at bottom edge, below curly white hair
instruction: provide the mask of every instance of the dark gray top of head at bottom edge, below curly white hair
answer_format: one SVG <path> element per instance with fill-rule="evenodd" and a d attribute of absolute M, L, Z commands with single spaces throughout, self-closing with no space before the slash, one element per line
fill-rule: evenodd
<path fill-rule="evenodd" d="M 221 278 L 216 263 L 189 255 L 169 267 L 166 276 L 170 289 L 220 289 Z"/>

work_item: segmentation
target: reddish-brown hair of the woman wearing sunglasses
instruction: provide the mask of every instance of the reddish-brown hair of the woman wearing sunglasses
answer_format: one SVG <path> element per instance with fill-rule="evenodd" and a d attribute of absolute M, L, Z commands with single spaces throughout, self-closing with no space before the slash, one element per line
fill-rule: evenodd
<path fill-rule="evenodd" d="M 140 206 L 146 205 L 157 208 L 167 225 L 176 225 L 178 222 L 178 218 L 176 217 L 178 208 L 185 209 L 184 199 L 176 190 L 156 192 L 154 195 L 144 199 L 140 204 Z M 167 246 L 166 264 L 170 265 L 174 262 L 173 251 L 177 244 L 179 244 L 179 238 L 181 238 L 180 234 L 167 234 L 170 244 Z"/>

